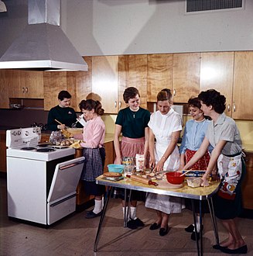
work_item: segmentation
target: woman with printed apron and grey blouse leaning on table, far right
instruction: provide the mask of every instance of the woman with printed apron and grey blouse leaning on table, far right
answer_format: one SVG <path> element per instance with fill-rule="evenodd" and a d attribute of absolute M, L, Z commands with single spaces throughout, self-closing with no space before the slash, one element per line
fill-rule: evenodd
<path fill-rule="evenodd" d="M 209 185 L 209 176 L 217 164 L 221 177 L 221 188 L 214 195 L 214 213 L 221 220 L 228 237 L 214 249 L 227 254 L 246 254 L 247 244 L 241 237 L 235 218 L 241 213 L 241 181 L 246 168 L 241 152 L 241 137 L 234 119 L 224 114 L 226 98 L 214 89 L 200 92 L 198 95 L 201 109 L 212 119 L 207 128 L 206 137 L 197 153 L 184 166 L 188 169 L 206 153 L 209 144 L 214 147 L 202 185 Z"/>

